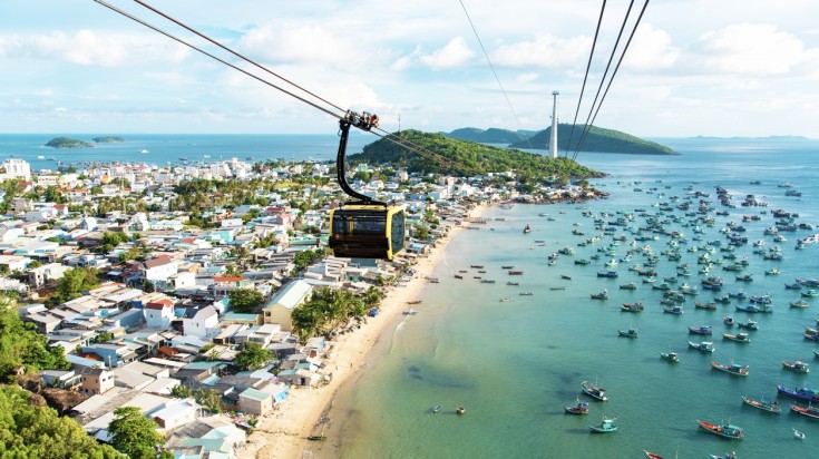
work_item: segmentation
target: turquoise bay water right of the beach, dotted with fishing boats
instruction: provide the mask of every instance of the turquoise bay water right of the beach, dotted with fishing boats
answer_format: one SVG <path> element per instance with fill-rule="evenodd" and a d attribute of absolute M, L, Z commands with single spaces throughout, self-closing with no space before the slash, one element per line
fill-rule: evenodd
<path fill-rule="evenodd" d="M 773 225 L 770 211 L 783 208 L 798 212 L 798 222 L 817 225 L 816 205 L 819 184 L 816 183 L 816 152 L 819 143 L 779 145 L 748 143 L 745 145 L 715 140 L 672 140 L 669 145 L 683 153 L 675 157 L 630 157 L 626 155 L 582 154 L 579 160 L 611 175 L 597 185 L 612 194 L 605 201 L 583 206 L 516 205 L 488 211 L 489 223 L 481 231 L 462 232 L 447 247 L 445 263 L 437 267 L 439 284 L 430 284 L 418 315 L 402 318 L 394 332 L 384 336 L 371 357 L 370 367 L 337 398 L 330 413 L 331 441 L 312 445 L 306 456 L 343 458 L 627 458 L 642 457 L 642 450 L 681 458 L 709 457 L 734 450 L 741 458 L 781 456 L 812 456 L 819 442 L 819 422 L 790 413 L 788 399 L 780 398 L 783 412 L 769 414 L 742 403 L 741 397 L 777 397 L 776 384 L 819 389 L 819 359 L 813 358 L 816 342 L 802 338 L 806 325 L 816 325 L 816 300 L 805 310 L 789 307 L 789 301 L 799 293 L 786 290 L 784 283 L 794 277 L 819 277 L 817 250 L 794 250 L 798 237 L 819 232 L 801 230 L 783 232 L 788 238 L 779 245 L 784 260 L 766 261 L 752 253 L 751 243 L 764 240 L 776 245 L 763 230 Z M 759 179 L 761 185 L 750 180 Z M 634 182 L 640 184 L 635 185 Z M 788 182 L 803 193 L 802 197 L 784 196 L 778 184 Z M 732 195 L 737 208 L 724 208 L 715 196 L 715 186 L 723 186 Z M 700 224 L 702 241 L 693 241 L 692 217 L 684 212 L 666 212 L 662 218 L 677 215 L 681 223 L 670 223 L 666 230 L 683 231 L 688 244 L 681 244 L 682 260 L 671 262 L 661 252 L 669 248 L 670 238 L 660 235 L 649 244 L 660 255 L 656 266 L 657 283 L 673 276 L 677 263 L 688 263 L 689 277 L 679 277 L 701 293 L 685 303 L 682 315 L 665 314 L 660 300 L 662 292 L 643 284 L 628 266 L 645 262 L 633 254 L 630 262 L 614 267 L 617 279 L 598 279 L 604 270 L 599 261 L 586 266 L 573 260 L 591 257 L 598 247 L 608 246 L 612 236 L 585 247 L 577 243 L 599 233 L 595 231 L 591 212 L 597 217 L 606 211 L 614 221 L 617 212 L 644 208 L 659 213 L 654 203 L 669 202 L 671 196 L 683 197 L 688 189 L 710 194 L 718 211 L 728 216 L 715 216 L 715 224 Z M 642 192 L 635 192 L 640 187 Z M 656 188 L 652 191 L 651 188 Z M 651 193 L 649 193 L 651 192 Z M 769 207 L 740 207 L 747 194 L 770 203 Z M 674 204 L 677 204 L 674 203 Z M 768 211 L 768 214 L 760 214 Z M 547 213 L 554 218 L 539 216 Z M 741 222 L 742 215 L 760 215 L 758 222 Z M 499 221 L 496 218 L 504 218 Z M 713 266 L 712 274 L 725 280 L 719 295 L 740 290 L 749 294 L 773 295 L 772 314 L 734 311 L 718 304 L 716 311 L 694 309 L 693 302 L 711 301 L 715 295 L 702 291 L 698 274 L 698 256 L 688 247 L 704 247 L 706 242 L 727 240 L 720 228 L 737 222 L 747 228 L 749 244 L 738 247 L 737 258 L 747 257 L 752 283 L 734 281 L 737 273 Z M 575 226 L 577 223 L 579 226 Z M 521 228 L 530 224 L 533 233 Z M 635 218 L 633 228 L 644 224 Z M 583 236 L 573 235 L 577 230 Z M 616 235 L 627 241 L 616 247 L 616 258 L 625 256 L 634 235 L 617 227 Z M 540 245 L 536 241 L 545 241 Z M 549 265 L 547 256 L 558 248 L 572 246 L 576 255 L 560 255 L 557 264 Z M 724 253 L 716 252 L 712 258 Z M 478 274 L 470 264 L 484 264 L 487 273 Z M 521 276 L 509 276 L 501 265 L 515 265 Z M 764 275 L 779 266 L 781 274 Z M 467 270 L 464 280 L 454 279 L 459 270 Z M 481 275 L 495 279 L 495 284 L 481 284 L 472 279 Z M 572 276 L 572 281 L 560 279 Z M 506 285 L 517 281 L 519 286 Z M 637 290 L 620 290 L 618 285 L 636 282 Z M 563 291 L 550 290 L 565 286 Z M 596 301 L 591 293 L 603 289 L 610 292 L 607 301 Z M 521 296 L 519 292 L 534 295 Z M 510 297 L 513 302 L 501 302 Z M 642 300 L 645 311 L 638 314 L 620 311 L 623 302 Z M 396 305 L 402 307 L 402 305 Z M 738 321 L 754 319 L 760 330 L 751 332 L 751 342 L 740 344 L 722 339 L 727 329 L 724 314 Z M 689 350 L 688 341 L 701 341 L 690 335 L 688 325 L 711 324 L 714 334 L 713 354 Z M 617 336 L 618 329 L 640 328 L 640 338 Z M 682 361 L 670 364 L 660 359 L 669 349 L 680 352 Z M 807 377 L 784 370 L 781 360 L 802 359 L 815 364 Z M 711 370 L 709 361 L 750 364 L 747 378 Z M 595 402 L 581 394 L 583 380 L 598 381 L 606 388 L 610 401 Z M 568 416 L 564 407 L 575 399 L 591 403 L 588 416 Z M 442 410 L 430 410 L 441 403 Z M 455 408 L 466 407 L 466 416 L 455 414 Z M 620 430 L 611 434 L 591 434 L 588 426 L 598 423 L 603 416 L 617 417 Z M 729 421 L 744 429 L 742 441 L 724 440 L 698 430 L 696 420 Z M 791 428 L 802 430 L 807 440 L 792 438 Z"/>

